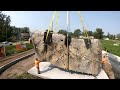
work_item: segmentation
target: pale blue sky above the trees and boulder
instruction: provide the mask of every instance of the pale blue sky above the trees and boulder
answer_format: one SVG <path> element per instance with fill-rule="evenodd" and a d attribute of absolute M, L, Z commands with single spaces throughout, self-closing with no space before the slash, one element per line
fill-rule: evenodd
<path fill-rule="evenodd" d="M 53 11 L 3 11 L 10 15 L 11 25 L 16 27 L 29 27 L 30 31 L 46 30 L 51 21 Z M 66 11 L 60 11 L 58 21 L 59 29 L 67 29 Z M 96 28 L 102 28 L 105 34 L 120 33 L 120 11 L 81 11 L 81 16 L 85 27 L 90 31 L 95 31 Z M 56 18 L 53 22 L 54 26 Z M 70 31 L 80 28 L 82 25 L 77 11 L 70 11 Z"/>

